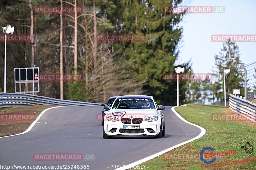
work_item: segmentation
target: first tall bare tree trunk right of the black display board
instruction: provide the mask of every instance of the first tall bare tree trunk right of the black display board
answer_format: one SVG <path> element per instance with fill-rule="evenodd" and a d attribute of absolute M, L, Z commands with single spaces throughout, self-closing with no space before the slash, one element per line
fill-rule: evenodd
<path fill-rule="evenodd" d="M 62 0 L 60 0 L 60 7 L 62 8 Z M 60 75 L 63 75 L 63 20 L 62 13 L 60 12 Z M 60 78 L 60 99 L 63 100 L 63 79 Z"/>

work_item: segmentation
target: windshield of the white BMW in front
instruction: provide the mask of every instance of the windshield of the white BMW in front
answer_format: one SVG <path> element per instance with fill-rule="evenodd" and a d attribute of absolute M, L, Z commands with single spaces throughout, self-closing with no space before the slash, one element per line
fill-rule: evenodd
<path fill-rule="evenodd" d="M 152 99 L 126 98 L 117 99 L 112 109 L 155 109 Z"/>

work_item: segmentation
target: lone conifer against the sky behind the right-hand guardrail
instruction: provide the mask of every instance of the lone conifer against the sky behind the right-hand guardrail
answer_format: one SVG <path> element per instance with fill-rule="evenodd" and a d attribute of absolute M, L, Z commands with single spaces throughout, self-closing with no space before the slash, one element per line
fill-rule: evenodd
<path fill-rule="evenodd" d="M 218 79 L 212 84 L 212 101 L 224 101 L 224 84 L 223 84 L 223 71 L 230 69 L 230 73 L 226 75 L 226 99 L 228 100 L 229 93 L 232 89 L 240 89 L 240 95 L 244 95 L 244 71 L 241 69 L 243 64 L 240 60 L 239 48 L 235 42 L 223 43 L 223 48 L 219 55 L 215 55 L 215 70 L 214 76 Z"/>

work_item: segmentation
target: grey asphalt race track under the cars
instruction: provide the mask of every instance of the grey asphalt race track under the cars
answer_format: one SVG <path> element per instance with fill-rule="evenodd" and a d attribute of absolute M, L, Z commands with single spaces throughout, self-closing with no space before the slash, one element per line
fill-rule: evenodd
<path fill-rule="evenodd" d="M 101 106 L 58 107 L 46 111 L 28 133 L 0 138 L 0 165 L 50 165 L 55 166 L 54 169 L 58 165 L 89 165 L 92 170 L 116 169 L 117 165 L 131 164 L 192 139 L 201 132 L 180 120 L 167 106 L 163 110 L 165 137 L 162 139 L 103 139 L 103 126 L 96 119 L 101 111 Z M 35 161 L 35 153 L 81 153 L 84 160 Z"/>

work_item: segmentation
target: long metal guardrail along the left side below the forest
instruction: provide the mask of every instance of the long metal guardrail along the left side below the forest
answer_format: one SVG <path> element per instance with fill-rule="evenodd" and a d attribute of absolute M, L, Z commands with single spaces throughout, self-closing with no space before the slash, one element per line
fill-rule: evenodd
<path fill-rule="evenodd" d="M 32 94 L 0 93 L 0 108 L 28 105 L 95 106 L 100 103 L 60 100 Z"/>

